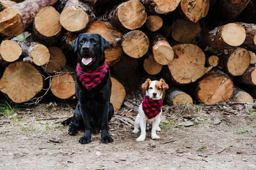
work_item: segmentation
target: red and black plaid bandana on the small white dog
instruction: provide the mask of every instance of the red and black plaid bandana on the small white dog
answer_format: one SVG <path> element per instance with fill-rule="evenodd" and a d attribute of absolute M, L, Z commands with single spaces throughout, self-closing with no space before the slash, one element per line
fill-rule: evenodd
<path fill-rule="evenodd" d="M 142 109 L 148 119 L 154 118 L 161 112 L 163 106 L 162 99 L 154 101 L 149 96 L 145 96 L 142 102 Z"/>

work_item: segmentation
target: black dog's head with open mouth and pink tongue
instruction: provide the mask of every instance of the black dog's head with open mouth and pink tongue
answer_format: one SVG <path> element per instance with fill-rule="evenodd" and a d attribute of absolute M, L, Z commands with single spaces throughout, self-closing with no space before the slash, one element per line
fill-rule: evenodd
<path fill-rule="evenodd" d="M 82 33 L 72 41 L 72 48 L 82 69 L 97 69 L 105 61 L 104 50 L 109 42 L 99 34 Z"/>

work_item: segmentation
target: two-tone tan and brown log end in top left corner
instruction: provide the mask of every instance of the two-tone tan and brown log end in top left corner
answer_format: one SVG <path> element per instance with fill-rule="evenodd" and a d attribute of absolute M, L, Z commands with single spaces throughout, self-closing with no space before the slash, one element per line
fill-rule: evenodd
<path fill-rule="evenodd" d="M 6 36 L 17 36 L 24 31 L 24 24 L 19 11 L 6 8 L 0 12 L 0 33 Z"/>

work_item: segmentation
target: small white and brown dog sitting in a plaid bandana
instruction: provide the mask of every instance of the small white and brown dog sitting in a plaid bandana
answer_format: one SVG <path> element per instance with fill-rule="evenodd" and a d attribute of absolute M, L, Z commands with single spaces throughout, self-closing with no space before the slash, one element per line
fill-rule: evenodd
<path fill-rule="evenodd" d="M 139 113 L 134 122 L 134 130 L 132 132 L 137 134 L 141 131 L 136 141 L 144 141 L 146 138 L 146 129 L 149 125 L 152 125 L 151 138 L 159 139 L 160 137 L 156 134 L 156 131 L 161 131 L 159 124 L 162 114 L 162 97 L 164 91 L 169 87 L 163 78 L 159 81 L 151 81 L 148 78 L 141 87 L 145 90 L 146 95 L 140 104 Z"/>

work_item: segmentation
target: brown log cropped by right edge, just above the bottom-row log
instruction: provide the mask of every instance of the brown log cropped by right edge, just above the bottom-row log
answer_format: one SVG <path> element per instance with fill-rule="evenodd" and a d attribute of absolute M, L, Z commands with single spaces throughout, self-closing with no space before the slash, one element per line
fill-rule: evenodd
<path fill-rule="evenodd" d="M 248 67 L 243 75 L 237 77 L 237 81 L 244 85 L 256 86 L 256 67 Z"/>

